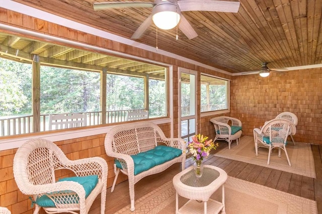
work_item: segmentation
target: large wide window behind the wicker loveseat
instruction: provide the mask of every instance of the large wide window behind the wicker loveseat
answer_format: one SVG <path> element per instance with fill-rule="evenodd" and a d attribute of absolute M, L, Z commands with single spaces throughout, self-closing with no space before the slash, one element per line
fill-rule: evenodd
<path fill-rule="evenodd" d="M 86 126 L 125 122 L 131 111 L 148 112 L 149 118 L 168 115 L 168 69 L 164 66 L 28 38 L 18 38 L 15 45 L 11 47 L 19 50 L 15 55 L 0 57 L 0 137 L 48 131 L 49 118 L 59 113 L 80 113 Z M 24 46 L 43 48 L 36 51 Z M 35 53 L 37 57 L 32 57 Z M 36 113 L 32 111 L 32 75 L 39 67 L 32 66 L 33 60 L 40 63 L 40 82 L 36 82 L 40 111 Z M 105 87 L 106 102 L 101 94 Z M 58 128 L 65 127 L 51 127 Z"/>

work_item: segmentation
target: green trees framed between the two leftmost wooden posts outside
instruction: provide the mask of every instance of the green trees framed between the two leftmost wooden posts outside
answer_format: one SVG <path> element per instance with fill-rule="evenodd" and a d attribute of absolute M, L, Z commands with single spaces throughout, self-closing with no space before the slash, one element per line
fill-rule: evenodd
<path fill-rule="evenodd" d="M 100 74 L 41 66 L 41 113 L 100 109 Z"/>

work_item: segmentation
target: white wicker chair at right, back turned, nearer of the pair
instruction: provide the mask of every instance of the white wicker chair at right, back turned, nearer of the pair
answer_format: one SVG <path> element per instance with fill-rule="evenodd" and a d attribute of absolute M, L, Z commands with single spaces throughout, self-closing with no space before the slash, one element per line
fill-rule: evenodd
<path fill-rule="evenodd" d="M 266 147 L 268 151 L 267 164 L 270 164 L 270 157 L 273 148 L 278 148 L 278 156 L 281 156 L 281 149 L 285 151 L 288 164 L 291 162 L 286 151 L 287 136 L 289 133 L 295 134 L 295 126 L 286 119 L 273 119 L 264 124 L 259 129 L 254 129 L 255 152 L 258 156 L 258 147 Z"/>

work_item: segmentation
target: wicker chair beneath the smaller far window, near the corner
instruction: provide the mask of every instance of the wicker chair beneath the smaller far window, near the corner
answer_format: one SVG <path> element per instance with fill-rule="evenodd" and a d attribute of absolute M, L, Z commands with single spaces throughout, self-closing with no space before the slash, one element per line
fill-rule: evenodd
<path fill-rule="evenodd" d="M 228 125 L 229 121 L 231 121 L 231 126 Z M 233 117 L 219 116 L 211 118 L 210 122 L 213 123 L 216 132 L 216 137 L 213 141 L 217 139 L 227 141 L 228 149 L 230 149 L 230 144 L 233 140 L 236 140 L 236 144 L 238 145 L 238 140 L 242 133 L 240 120 Z M 240 130 L 234 133 L 231 128 L 236 127 L 240 127 Z"/>

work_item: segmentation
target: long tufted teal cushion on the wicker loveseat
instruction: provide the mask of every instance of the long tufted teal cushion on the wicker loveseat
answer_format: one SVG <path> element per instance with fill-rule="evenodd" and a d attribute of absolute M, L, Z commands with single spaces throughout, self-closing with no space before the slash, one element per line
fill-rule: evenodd
<path fill-rule="evenodd" d="M 181 154 L 181 149 L 159 145 L 154 149 L 131 155 L 134 162 L 134 175 L 179 157 Z M 115 160 L 115 163 L 118 168 L 122 168 L 121 163 L 118 160 Z"/>

